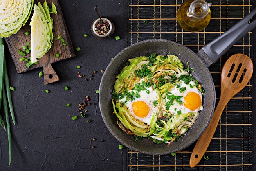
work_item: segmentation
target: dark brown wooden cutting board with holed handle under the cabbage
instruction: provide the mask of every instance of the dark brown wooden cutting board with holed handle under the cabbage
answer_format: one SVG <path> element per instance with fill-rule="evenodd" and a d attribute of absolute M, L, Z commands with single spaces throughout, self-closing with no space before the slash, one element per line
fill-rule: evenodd
<path fill-rule="evenodd" d="M 40 2 L 43 5 L 44 1 L 45 0 L 34 0 L 34 4 Z M 18 49 L 23 50 L 22 46 L 26 45 L 27 42 L 31 42 L 31 35 L 25 35 L 25 32 L 28 31 L 29 33 L 31 33 L 29 23 L 31 21 L 33 11 L 31 12 L 31 16 L 25 26 L 22 26 L 22 28 L 16 34 L 5 38 L 17 72 L 22 73 L 43 67 L 45 85 L 59 80 L 58 75 L 52 68 L 53 63 L 76 56 L 70 39 L 70 35 L 67 31 L 65 20 L 62 15 L 60 4 L 58 3 L 58 0 L 47 0 L 47 4 L 49 7 L 51 7 L 52 2 L 56 5 L 57 10 L 57 15 L 55 15 L 54 13 L 50 14 L 53 18 L 53 43 L 49 52 L 39 59 L 38 64 L 30 66 L 28 68 L 25 61 L 19 60 L 22 56 L 20 56 L 18 52 Z M 58 35 L 60 35 L 65 40 L 66 46 L 63 46 L 63 42 L 61 42 L 60 39 L 57 39 Z M 56 53 L 59 53 L 60 57 L 55 57 Z M 27 55 L 26 58 L 29 58 L 29 55 Z"/>

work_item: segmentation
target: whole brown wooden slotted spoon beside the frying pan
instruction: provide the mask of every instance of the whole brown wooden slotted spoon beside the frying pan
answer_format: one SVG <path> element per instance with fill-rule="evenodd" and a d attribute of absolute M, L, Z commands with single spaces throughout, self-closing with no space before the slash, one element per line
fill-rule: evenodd
<path fill-rule="evenodd" d="M 207 150 L 211 138 L 216 131 L 220 116 L 229 102 L 229 100 L 240 92 L 252 77 L 253 63 L 252 60 L 244 54 L 235 54 L 227 59 L 221 72 L 220 78 L 220 100 L 213 113 L 211 121 L 198 139 L 195 148 L 191 154 L 189 165 L 195 167 L 200 162 Z"/>

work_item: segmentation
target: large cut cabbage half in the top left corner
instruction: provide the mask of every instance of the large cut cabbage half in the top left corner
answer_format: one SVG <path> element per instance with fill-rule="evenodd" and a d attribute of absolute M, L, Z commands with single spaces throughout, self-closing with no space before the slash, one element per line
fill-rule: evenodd
<path fill-rule="evenodd" d="M 34 0 L 1 0 L 0 37 L 9 37 L 24 26 L 31 14 Z"/>

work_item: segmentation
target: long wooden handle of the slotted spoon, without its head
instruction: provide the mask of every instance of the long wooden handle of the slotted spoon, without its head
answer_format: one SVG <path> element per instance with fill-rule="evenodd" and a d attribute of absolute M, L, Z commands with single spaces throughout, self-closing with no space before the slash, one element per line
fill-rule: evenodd
<path fill-rule="evenodd" d="M 225 90 L 223 90 L 223 91 L 225 92 Z M 218 102 L 218 105 L 217 105 L 214 113 L 213 113 L 211 121 L 210 121 L 207 129 L 205 129 L 204 133 L 198 139 L 198 141 L 195 145 L 195 148 L 191 154 L 191 157 L 189 160 L 189 165 L 191 168 L 195 167 L 195 165 L 198 164 L 200 162 L 200 160 L 202 159 L 202 157 L 204 156 L 204 153 L 207 150 L 207 148 L 211 142 L 211 138 L 213 137 L 213 134 L 216 131 L 218 122 L 220 120 L 220 116 L 221 116 L 225 106 L 227 105 L 228 101 L 232 97 L 229 94 L 230 93 L 223 94 L 223 96 L 220 96 L 220 100 Z"/>

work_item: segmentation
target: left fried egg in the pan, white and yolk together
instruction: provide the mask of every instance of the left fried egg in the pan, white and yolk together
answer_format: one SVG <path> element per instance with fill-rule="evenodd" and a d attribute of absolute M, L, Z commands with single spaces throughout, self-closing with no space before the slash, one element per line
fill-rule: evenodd
<path fill-rule="evenodd" d="M 153 114 L 158 113 L 158 93 L 153 88 L 149 87 L 146 90 L 135 91 L 130 90 L 130 92 L 134 92 L 135 94 L 139 94 L 139 97 L 134 100 L 127 100 L 126 98 L 120 99 L 121 102 L 125 103 L 126 107 L 139 121 L 142 121 L 148 125 L 150 125 Z"/>

